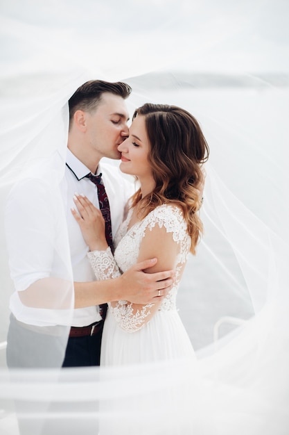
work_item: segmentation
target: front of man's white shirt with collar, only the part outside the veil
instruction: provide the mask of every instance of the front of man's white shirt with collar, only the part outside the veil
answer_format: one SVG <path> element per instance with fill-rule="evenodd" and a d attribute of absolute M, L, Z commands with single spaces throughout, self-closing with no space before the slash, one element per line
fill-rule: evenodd
<path fill-rule="evenodd" d="M 76 208 L 73 195 L 78 192 L 85 195 L 96 207 L 98 204 L 97 188 L 87 177 L 89 169 L 81 163 L 68 149 L 67 168 L 62 186 L 64 208 L 67 216 L 69 232 L 69 245 L 73 270 L 73 281 L 94 281 L 96 278 L 87 258 L 88 247 L 83 240 L 80 227 L 71 213 L 71 207 Z M 123 221 L 123 211 L 128 198 L 134 192 L 134 186 L 121 174 L 118 167 L 108 163 L 98 165 L 97 174 L 102 174 L 103 184 L 110 202 L 110 215 L 112 220 L 112 238 Z M 98 306 L 74 310 L 72 326 L 90 325 L 100 320 Z"/>

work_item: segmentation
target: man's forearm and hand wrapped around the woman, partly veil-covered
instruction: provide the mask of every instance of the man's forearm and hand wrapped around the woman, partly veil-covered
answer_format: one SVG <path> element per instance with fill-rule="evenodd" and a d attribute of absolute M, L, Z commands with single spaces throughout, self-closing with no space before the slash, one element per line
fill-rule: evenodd
<path fill-rule="evenodd" d="M 145 273 L 157 263 L 157 258 L 142 261 L 132 266 L 121 277 L 105 281 L 74 283 L 74 308 L 104 304 L 125 299 L 135 304 L 149 304 L 158 297 L 166 295 L 173 284 L 175 272 L 168 270 Z M 69 309 L 71 308 L 72 283 L 58 278 L 38 279 L 26 290 L 18 292 L 22 304 L 33 308 Z"/>

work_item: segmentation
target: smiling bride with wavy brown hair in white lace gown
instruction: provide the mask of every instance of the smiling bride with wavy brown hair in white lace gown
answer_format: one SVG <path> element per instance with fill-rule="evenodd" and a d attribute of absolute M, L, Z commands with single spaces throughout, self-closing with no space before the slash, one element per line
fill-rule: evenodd
<path fill-rule="evenodd" d="M 155 304 L 116 300 L 109 304 L 101 365 L 121 365 L 192 357 L 193 348 L 176 308 L 186 259 L 202 232 L 202 202 L 209 147 L 195 118 L 177 106 L 144 104 L 132 118 L 130 136 L 119 145 L 121 171 L 140 187 L 114 240 L 105 240 L 103 217 L 86 197 L 72 211 L 89 246 L 97 279 L 117 277 L 137 261 L 157 257 L 147 272 L 175 269 L 173 288 Z M 117 298 L 117 295 L 116 295 Z"/>

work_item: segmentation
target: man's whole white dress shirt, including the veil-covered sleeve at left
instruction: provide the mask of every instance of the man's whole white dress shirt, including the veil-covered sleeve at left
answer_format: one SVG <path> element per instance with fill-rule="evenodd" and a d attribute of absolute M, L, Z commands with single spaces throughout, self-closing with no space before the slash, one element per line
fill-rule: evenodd
<path fill-rule="evenodd" d="M 89 172 L 67 149 L 67 167 L 60 185 L 56 181 L 51 186 L 51 174 L 50 181 L 47 177 L 31 177 L 10 194 L 6 207 L 6 234 L 10 274 L 15 285 L 10 311 L 21 322 L 37 326 L 82 327 L 100 320 L 98 306 L 72 310 L 37 309 L 22 304 L 18 295 L 19 291 L 43 278 L 60 278 L 64 286 L 71 279 L 96 279 L 87 258 L 88 247 L 71 213 L 71 207 L 76 208 L 73 202 L 76 192 L 86 195 L 98 207 L 97 188 L 85 178 Z M 98 174 L 100 172 L 110 202 L 114 237 L 134 185 L 115 165 L 101 163 Z M 73 306 L 73 299 L 71 304 Z M 57 305 L 58 301 L 55 301 L 56 308 Z"/>

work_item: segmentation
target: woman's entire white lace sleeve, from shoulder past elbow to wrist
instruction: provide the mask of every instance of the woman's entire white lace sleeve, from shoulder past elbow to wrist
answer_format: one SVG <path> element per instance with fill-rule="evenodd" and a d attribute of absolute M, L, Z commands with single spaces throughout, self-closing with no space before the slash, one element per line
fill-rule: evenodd
<path fill-rule="evenodd" d="M 123 236 L 115 252 L 116 260 L 110 248 L 106 251 L 90 252 L 88 256 L 96 278 L 101 280 L 119 277 L 121 271 L 118 264 L 121 270 L 128 270 L 136 261 L 143 243 L 147 249 L 150 249 L 155 244 L 155 240 L 159 239 L 161 240 L 159 249 L 164 249 L 167 254 L 170 252 L 173 258 L 172 263 L 183 264 L 186 261 L 191 239 L 186 233 L 186 222 L 179 208 L 159 206 L 149 213 L 143 221 L 132 228 L 128 235 Z M 179 269 L 180 267 L 177 266 L 177 273 Z M 170 290 L 170 295 L 173 295 L 173 289 Z M 169 300 L 170 295 L 164 300 L 166 306 L 172 305 Z M 150 321 L 161 304 L 163 304 L 162 299 L 154 304 L 146 305 L 134 304 L 127 300 L 110 302 L 109 305 L 119 327 L 126 332 L 133 333 L 139 331 Z"/>

